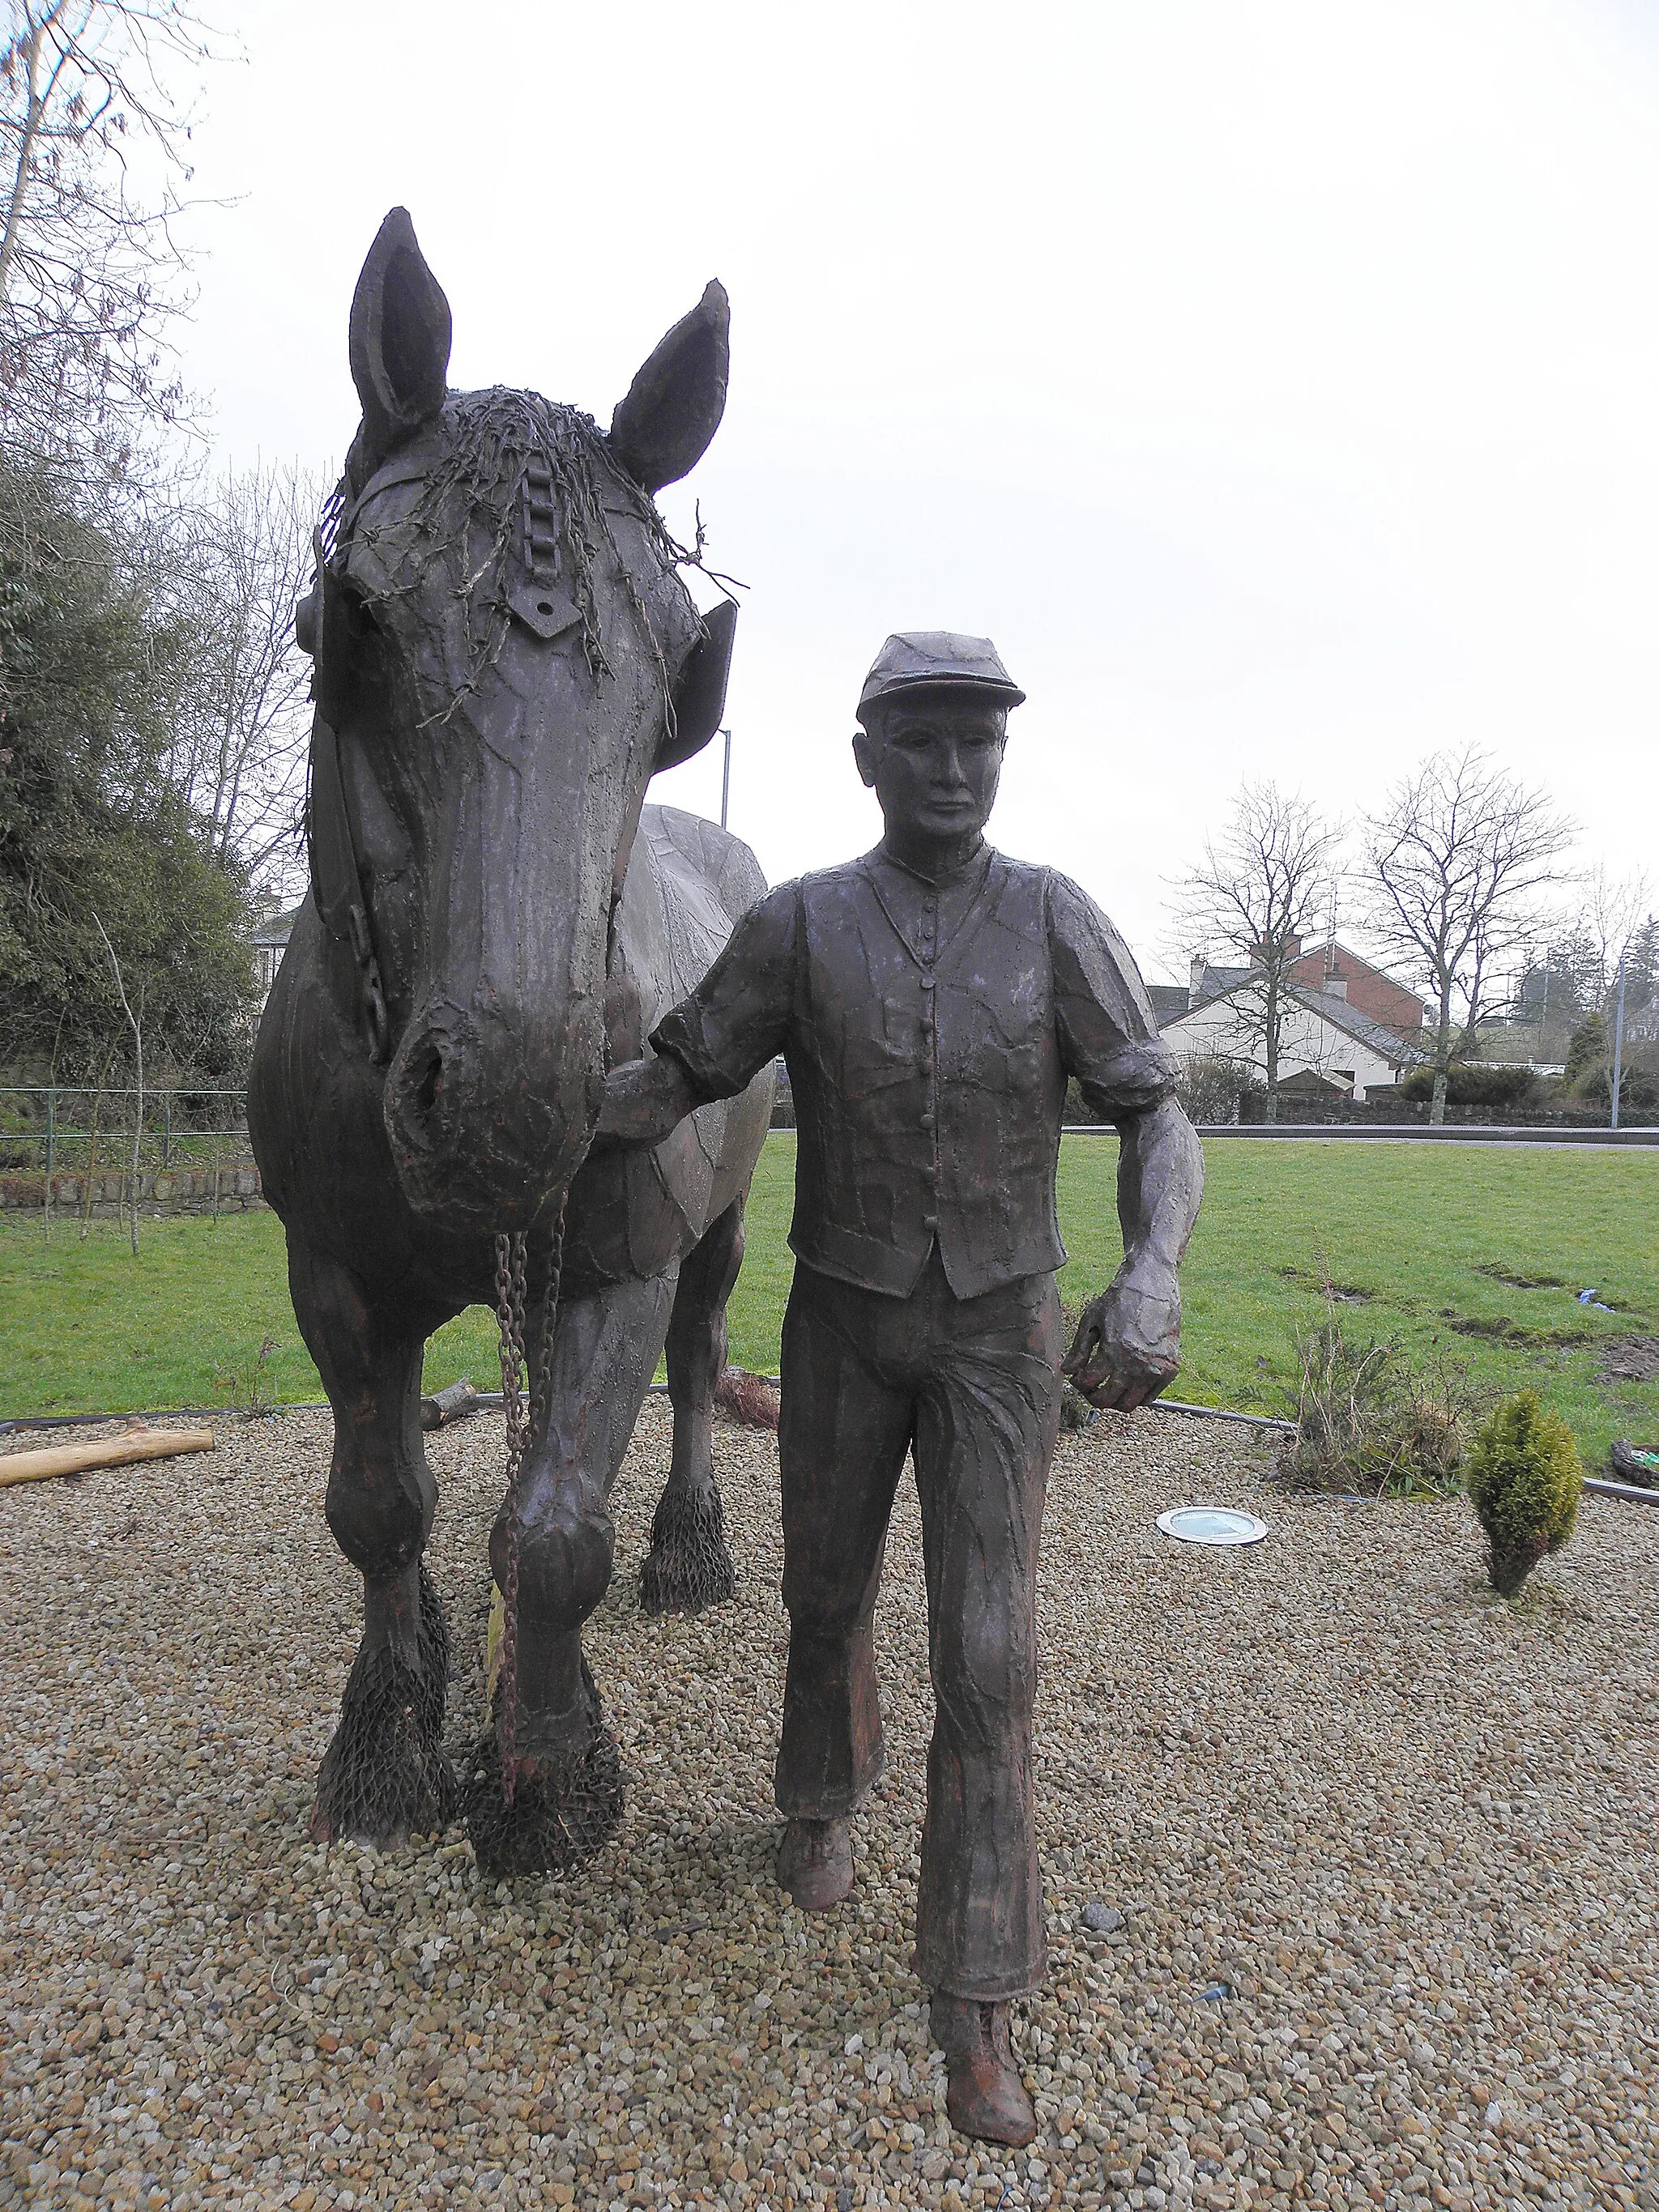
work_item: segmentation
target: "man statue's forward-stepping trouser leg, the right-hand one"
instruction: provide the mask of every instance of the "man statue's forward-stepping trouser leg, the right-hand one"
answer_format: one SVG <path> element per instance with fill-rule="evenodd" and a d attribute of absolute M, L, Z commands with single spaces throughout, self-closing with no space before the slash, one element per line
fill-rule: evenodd
<path fill-rule="evenodd" d="M 916 1971 L 958 1997 L 1046 1966 L 1031 1787 L 1037 1544 L 1060 1433 L 1060 1301 L 1011 1285 L 998 1325 L 942 1343 L 916 1416 L 933 1741 Z M 989 1307 L 991 1301 L 964 1301 Z"/>

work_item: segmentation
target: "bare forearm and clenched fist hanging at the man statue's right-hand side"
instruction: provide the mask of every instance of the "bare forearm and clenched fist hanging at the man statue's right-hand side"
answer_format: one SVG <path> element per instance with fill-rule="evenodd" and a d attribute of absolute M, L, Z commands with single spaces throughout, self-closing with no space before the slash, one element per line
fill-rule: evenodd
<path fill-rule="evenodd" d="M 1064 1374 L 1091 1405 L 1146 1405 L 1181 1365 L 1179 1265 L 1203 1197 L 1203 1150 L 1172 1097 L 1117 1124 L 1124 1265 L 1077 1323 Z"/>

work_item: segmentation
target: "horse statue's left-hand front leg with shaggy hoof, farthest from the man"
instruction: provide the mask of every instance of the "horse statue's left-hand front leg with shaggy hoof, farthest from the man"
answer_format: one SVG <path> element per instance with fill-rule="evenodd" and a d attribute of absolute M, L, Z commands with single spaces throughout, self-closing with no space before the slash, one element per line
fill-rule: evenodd
<path fill-rule="evenodd" d="M 394 1849 L 449 1820 L 449 1630 L 420 1555 L 438 1486 L 420 1440 L 425 1327 L 376 1312 L 347 1267 L 292 1230 L 288 1281 L 334 1409 L 327 1524 L 363 1575 L 363 1641 L 316 1774 L 312 1836 Z"/>

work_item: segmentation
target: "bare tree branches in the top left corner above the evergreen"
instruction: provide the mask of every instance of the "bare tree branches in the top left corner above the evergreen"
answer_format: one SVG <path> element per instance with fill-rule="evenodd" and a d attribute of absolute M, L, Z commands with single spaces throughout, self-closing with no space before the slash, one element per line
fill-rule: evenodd
<path fill-rule="evenodd" d="M 217 40 L 186 0 L 4 0 L 0 24 L 0 427 L 119 480 L 184 411 L 173 226 Z"/>

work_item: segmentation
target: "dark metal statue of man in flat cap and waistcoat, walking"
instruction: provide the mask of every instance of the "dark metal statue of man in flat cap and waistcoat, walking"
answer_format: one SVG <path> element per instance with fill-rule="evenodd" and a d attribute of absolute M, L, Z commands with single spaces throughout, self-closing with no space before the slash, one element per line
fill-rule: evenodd
<path fill-rule="evenodd" d="M 659 1144 L 787 1060 L 799 1265 L 779 1431 L 776 1878 L 805 1911 L 852 1889 L 849 1814 L 883 1767 L 872 1617 L 911 1451 L 936 1701 L 916 1971 L 951 2119 L 1000 2143 L 1035 2135 L 1009 2000 L 1046 1964 L 1031 1708 L 1066 1077 L 1121 1135 L 1124 1265 L 1064 1360 L 1095 1405 L 1146 1405 L 1175 1376 L 1177 1263 L 1203 1183 L 1124 942 L 1077 885 L 984 843 L 1022 699 L 984 637 L 889 637 L 852 741 L 880 845 L 750 907 L 657 1024 L 657 1057 L 611 1075 L 599 1119 L 602 1135 Z"/>

